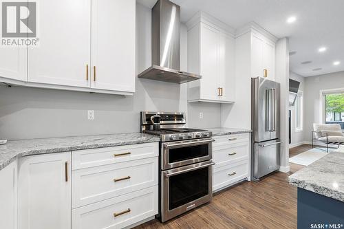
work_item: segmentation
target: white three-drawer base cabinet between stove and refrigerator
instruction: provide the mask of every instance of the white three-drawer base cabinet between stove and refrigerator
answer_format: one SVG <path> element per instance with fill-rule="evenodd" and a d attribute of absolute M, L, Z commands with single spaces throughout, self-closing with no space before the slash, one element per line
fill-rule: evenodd
<path fill-rule="evenodd" d="M 250 179 L 250 134 L 213 138 L 213 192 Z"/>

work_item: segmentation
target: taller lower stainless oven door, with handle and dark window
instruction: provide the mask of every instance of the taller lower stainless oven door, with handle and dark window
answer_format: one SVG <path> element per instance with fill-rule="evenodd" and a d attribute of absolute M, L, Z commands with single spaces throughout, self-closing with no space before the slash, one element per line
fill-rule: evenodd
<path fill-rule="evenodd" d="M 200 162 L 161 175 L 161 221 L 167 221 L 213 198 L 213 162 Z"/>

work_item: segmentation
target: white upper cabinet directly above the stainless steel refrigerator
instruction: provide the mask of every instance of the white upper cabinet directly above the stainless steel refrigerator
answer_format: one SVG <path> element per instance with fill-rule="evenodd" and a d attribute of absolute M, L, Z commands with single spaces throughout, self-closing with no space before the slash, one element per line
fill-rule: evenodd
<path fill-rule="evenodd" d="M 275 42 L 262 34 L 251 34 L 251 77 L 275 80 Z"/>

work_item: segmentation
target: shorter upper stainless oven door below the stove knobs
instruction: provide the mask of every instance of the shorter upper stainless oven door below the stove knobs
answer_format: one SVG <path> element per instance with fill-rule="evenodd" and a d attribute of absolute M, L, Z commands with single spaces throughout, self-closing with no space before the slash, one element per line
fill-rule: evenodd
<path fill-rule="evenodd" d="M 204 162 L 212 158 L 212 138 L 166 142 L 162 144 L 162 170 Z"/>

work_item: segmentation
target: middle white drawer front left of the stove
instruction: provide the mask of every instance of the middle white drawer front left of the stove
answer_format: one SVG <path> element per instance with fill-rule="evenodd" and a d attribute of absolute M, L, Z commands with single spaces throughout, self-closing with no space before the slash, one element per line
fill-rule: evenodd
<path fill-rule="evenodd" d="M 158 157 L 72 172 L 72 208 L 158 185 Z"/>

